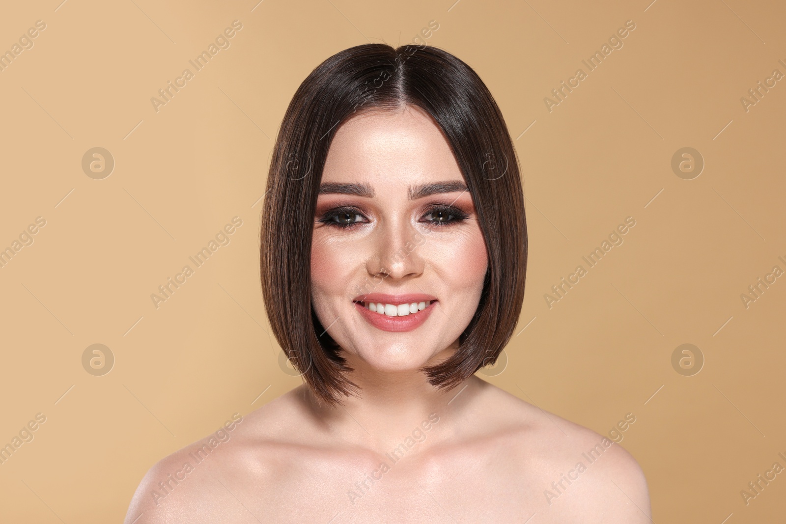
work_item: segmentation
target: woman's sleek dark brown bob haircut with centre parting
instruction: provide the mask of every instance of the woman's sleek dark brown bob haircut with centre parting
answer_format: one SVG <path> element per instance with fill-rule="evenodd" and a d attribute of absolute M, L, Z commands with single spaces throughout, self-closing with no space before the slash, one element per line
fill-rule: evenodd
<path fill-rule="evenodd" d="M 260 246 L 270 326 L 308 386 L 329 405 L 358 394 L 341 348 L 311 305 L 314 210 L 328 149 L 360 112 L 417 106 L 438 126 L 464 176 L 486 241 L 488 270 L 459 349 L 424 368 L 450 390 L 493 364 L 516 328 L 527 272 L 527 222 L 516 150 L 494 97 L 475 71 L 433 46 L 364 44 L 319 64 L 300 84 L 278 131 Z"/>

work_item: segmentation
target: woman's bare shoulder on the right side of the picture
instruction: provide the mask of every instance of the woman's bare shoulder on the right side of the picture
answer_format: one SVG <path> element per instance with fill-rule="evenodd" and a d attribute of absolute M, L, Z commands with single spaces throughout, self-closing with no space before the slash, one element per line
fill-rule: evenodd
<path fill-rule="evenodd" d="M 647 481 L 623 448 L 634 413 L 610 423 L 606 434 L 573 423 L 494 387 L 495 409 L 510 427 L 504 447 L 520 464 L 525 487 L 545 511 L 581 522 L 651 522 Z"/>

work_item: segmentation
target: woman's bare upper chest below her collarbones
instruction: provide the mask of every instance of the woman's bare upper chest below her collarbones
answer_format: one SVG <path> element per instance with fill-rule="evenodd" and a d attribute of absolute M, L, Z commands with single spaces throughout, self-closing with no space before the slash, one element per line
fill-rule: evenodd
<path fill-rule="evenodd" d="M 311 461 L 269 478 L 254 497 L 269 522 L 570 522 L 550 508 L 542 475 L 493 453 L 362 464 Z M 257 484 L 259 486 L 259 484 Z M 257 492 L 259 493 L 259 492 Z M 562 520 L 560 520 L 562 519 Z"/>

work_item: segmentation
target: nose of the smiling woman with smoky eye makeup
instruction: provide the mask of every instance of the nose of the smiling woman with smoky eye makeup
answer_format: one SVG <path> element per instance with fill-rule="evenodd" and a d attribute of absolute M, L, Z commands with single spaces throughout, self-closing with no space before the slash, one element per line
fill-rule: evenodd
<path fill-rule="evenodd" d="M 424 268 L 420 251 L 424 241 L 423 233 L 406 221 L 380 224 L 374 233 L 369 273 L 383 273 L 394 279 L 417 277 Z"/>

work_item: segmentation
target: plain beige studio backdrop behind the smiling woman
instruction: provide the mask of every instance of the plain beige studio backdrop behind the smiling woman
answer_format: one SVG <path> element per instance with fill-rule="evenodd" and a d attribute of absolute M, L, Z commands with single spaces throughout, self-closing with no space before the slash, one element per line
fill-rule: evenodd
<path fill-rule="evenodd" d="M 430 20 L 428 43 L 494 93 L 526 182 L 520 334 L 487 379 L 600 433 L 634 413 L 622 445 L 655 522 L 784 518 L 786 474 L 747 505 L 740 490 L 786 466 L 786 277 L 747 309 L 740 294 L 786 270 L 786 81 L 747 112 L 740 97 L 786 74 L 786 6 L 453 1 L 4 5 L 0 50 L 46 30 L 0 71 L 0 247 L 46 226 L 0 268 L 0 444 L 46 423 L 0 465 L 0 521 L 120 522 L 156 460 L 300 383 L 259 289 L 273 138 L 321 60 L 411 42 Z M 233 20 L 230 48 L 156 112 L 150 98 Z M 626 20 L 623 48 L 549 112 L 544 97 Z M 83 172 L 94 147 L 115 159 L 108 178 Z M 706 162 L 698 178 L 670 167 L 683 147 Z M 156 310 L 150 295 L 234 216 L 230 244 Z M 624 244 L 549 309 L 544 294 L 628 216 Z M 116 359 L 105 376 L 83 368 L 94 343 Z M 683 343 L 705 359 L 694 376 L 672 367 Z"/>

